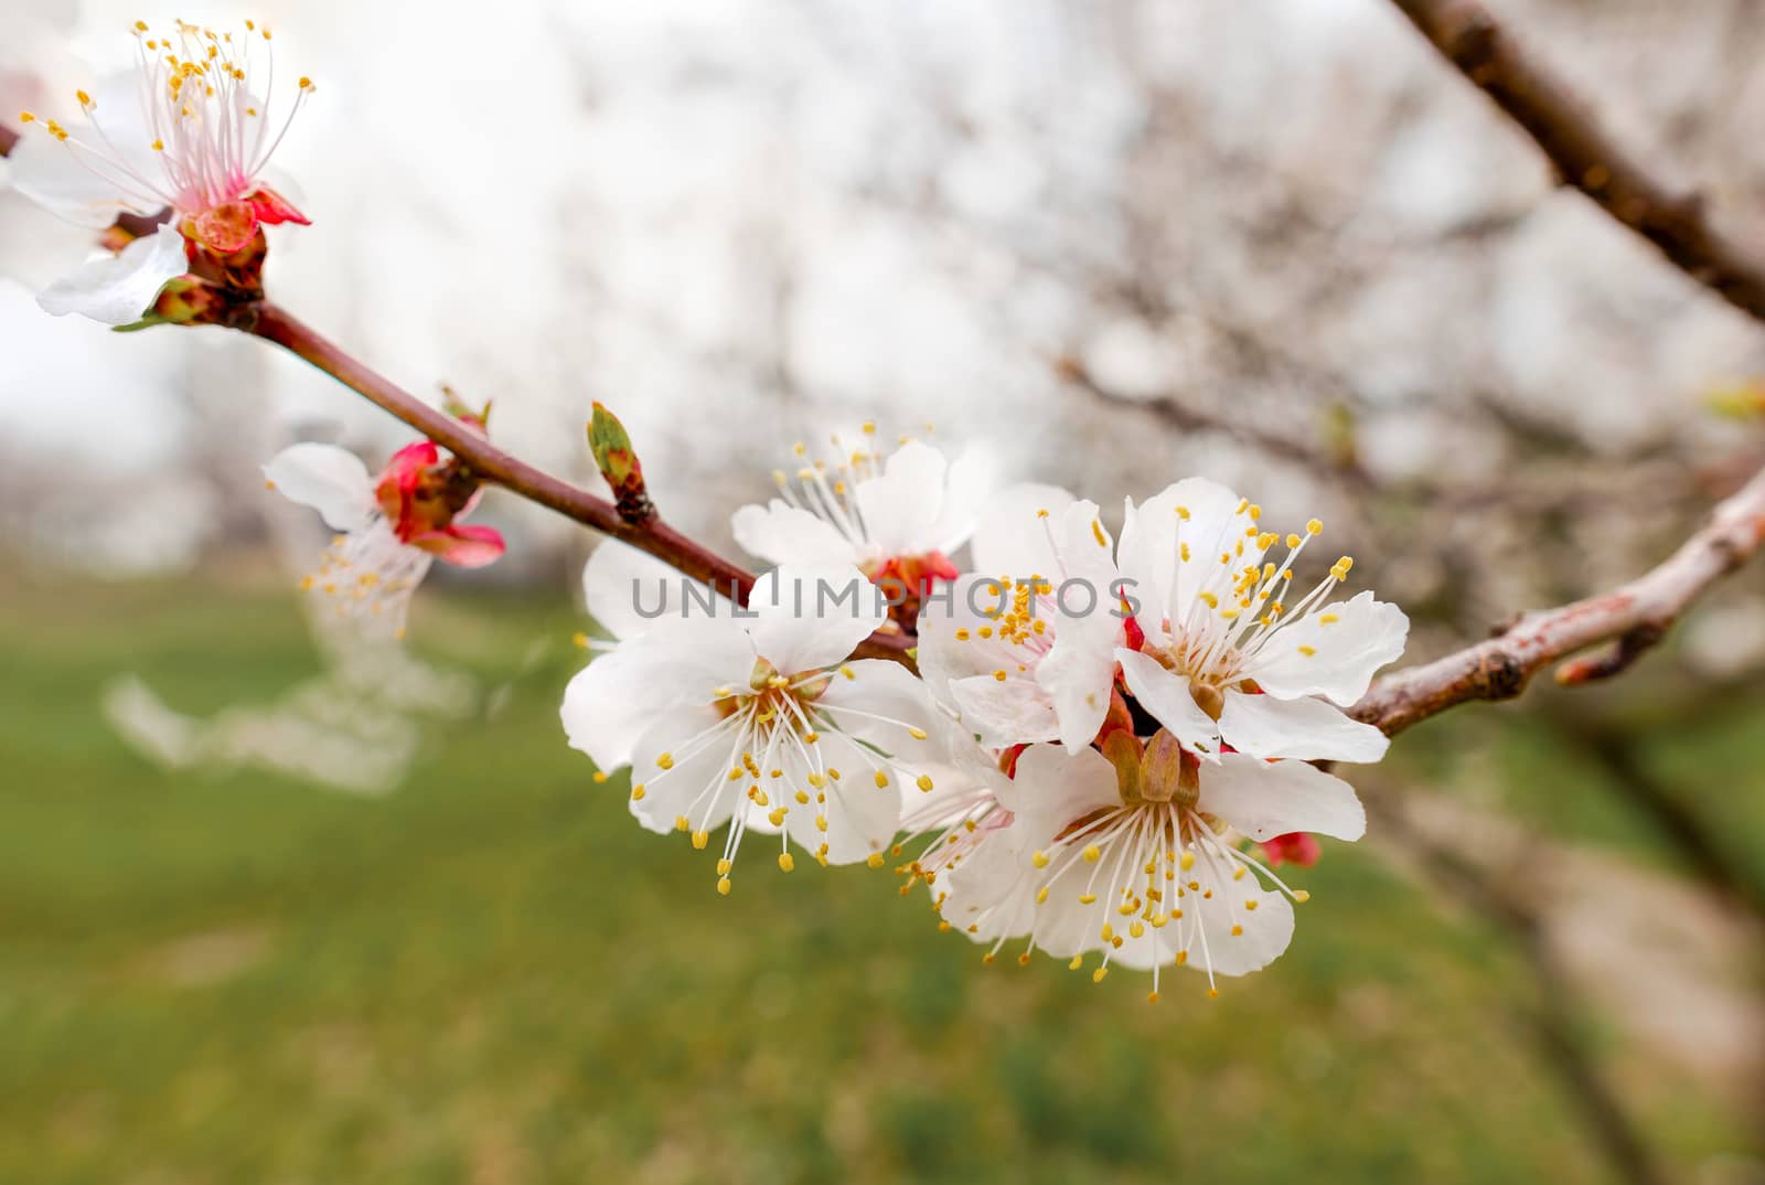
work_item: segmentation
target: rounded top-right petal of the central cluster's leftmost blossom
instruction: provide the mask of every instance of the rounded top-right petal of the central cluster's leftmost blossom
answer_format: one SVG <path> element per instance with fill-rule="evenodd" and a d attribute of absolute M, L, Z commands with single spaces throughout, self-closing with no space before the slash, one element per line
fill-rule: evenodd
<path fill-rule="evenodd" d="M 851 565 L 785 563 L 754 585 L 741 625 L 784 675 L 833 666 L 888 620 L 877 588 Z"/>

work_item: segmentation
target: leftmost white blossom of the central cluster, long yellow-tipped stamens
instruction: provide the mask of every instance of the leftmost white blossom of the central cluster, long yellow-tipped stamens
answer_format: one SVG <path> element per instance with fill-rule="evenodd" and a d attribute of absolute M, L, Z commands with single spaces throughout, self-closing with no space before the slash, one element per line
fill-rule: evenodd
<path fill-rule="evenodd" d="M 658 567 L 611 542 L 590 558 L 590 611 L 623 638 L 565 691 L 570 745 L 602 770 L 632 766 L 632 814 L 653 832 L 702 849 L 729 823 L 722 894 L 750 830 L 778 837 L 787 872 L 792 842 L 822 864 L 881 865 L 900 782 L 935 789 L 920 763 L 937 761 L 939 719 L 905 668 L 847 662 L 884 620 L 874 590 L 851 565 L 782 565 L 740 615 L 708 597 L 699 616 L 685 602 L 646 620 L 634 581 Z"/>

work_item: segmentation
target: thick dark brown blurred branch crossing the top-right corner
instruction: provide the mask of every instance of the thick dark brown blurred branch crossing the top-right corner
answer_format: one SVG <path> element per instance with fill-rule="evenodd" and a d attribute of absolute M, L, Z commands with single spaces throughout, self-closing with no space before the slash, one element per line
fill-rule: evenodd
<path fill-rule="evenodd" d="M 1652 175 L 1477 0 L 1391 0 L 1557 166 L 1562 184 L 1661 249 L 1677 268 L 1765 321 L 1765 256 L 1723 235 L 1703 198 Z"/>

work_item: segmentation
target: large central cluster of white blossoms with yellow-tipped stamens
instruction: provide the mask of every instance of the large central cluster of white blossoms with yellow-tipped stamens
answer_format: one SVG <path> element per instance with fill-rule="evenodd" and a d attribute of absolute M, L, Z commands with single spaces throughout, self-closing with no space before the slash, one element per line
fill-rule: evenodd
<path fill-rule="evenodd" d="M 777 565 L 745 609 L 625 544 L 590 558 L 616 641 L 563 724 L 597 781 L 628 768 L 653 832 L 720 832 L 720 894 L 759 834 L 787 872 L 805 853 L 925 883 L 988 961 L 1098 955 L 1094 978 L 1151 970 L 1156 998 L 1165 966 L 1213 991 L 1276 959 L 1306 894 L 1271 865 L 1364 830 L 1311 763 L 1384 754 L 1343 708 L 1401 653 L 1403 613 L 1341 595 L 1347 556 L 1296 588 L 1322 523 L 1271 530 L 1205 479 L 1130 502 L 1117 540 L 1063 489 L 980 496 L 927 443 L 833 443 L 736 512 Z M 918 675 L 852 657 L 909 632 Z"/>

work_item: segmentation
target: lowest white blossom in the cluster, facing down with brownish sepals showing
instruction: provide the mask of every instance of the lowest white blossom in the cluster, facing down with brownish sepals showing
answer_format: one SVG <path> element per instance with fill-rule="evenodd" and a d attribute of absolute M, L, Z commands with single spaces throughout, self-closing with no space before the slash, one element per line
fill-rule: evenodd
<path fill-rule="evenodd" d="M 1153 971 L 1244 975 L 1287 950 L 1290 902 L 1308 899 L 1241 849 L 1304 830 L 1359 839 L 1354 789 L 1303 761 L 1227 754 L 1204 763 L 1160 729 L 1115 733 L 1108 756 L 1031 745 L 999 788 L 1010 826 L 985 832 L 944 878 L 944 920 L 990 945 L 1011 938 L 1070 959 Z"/>

